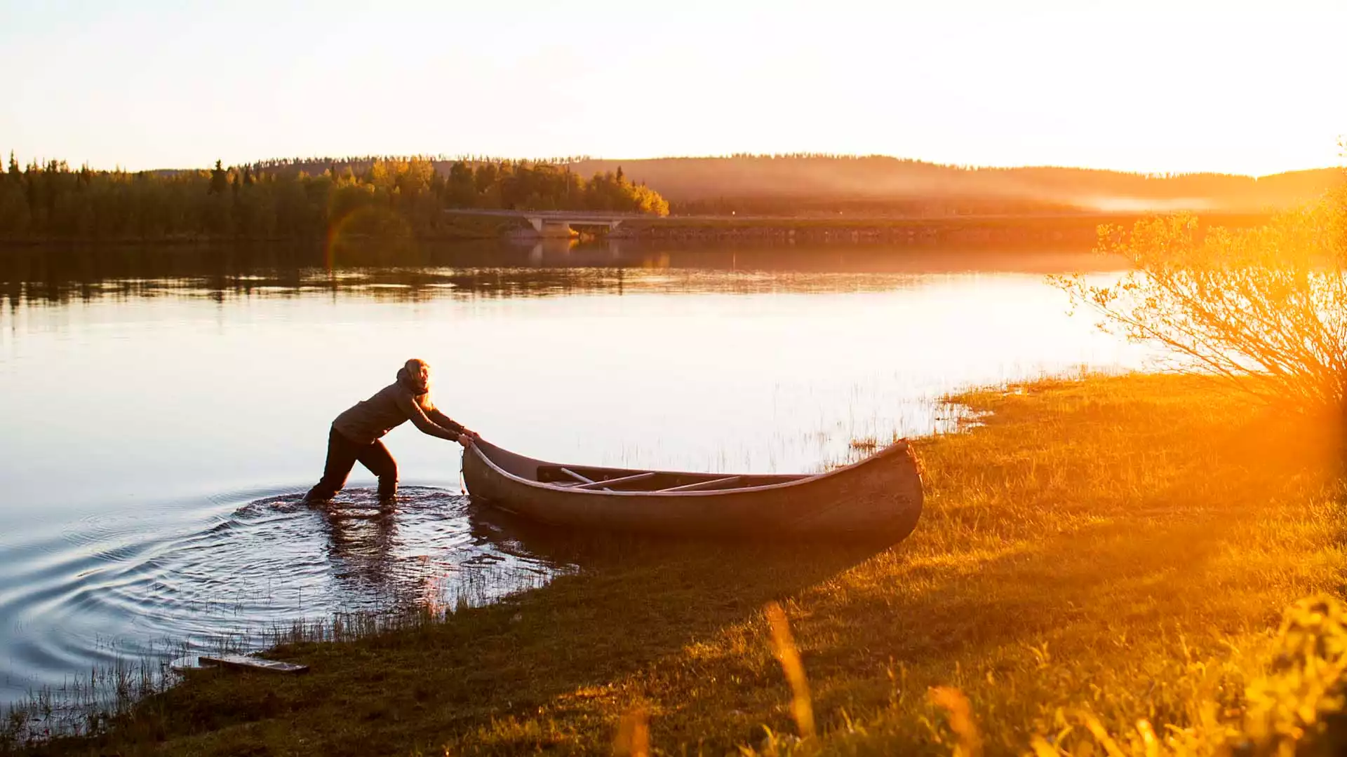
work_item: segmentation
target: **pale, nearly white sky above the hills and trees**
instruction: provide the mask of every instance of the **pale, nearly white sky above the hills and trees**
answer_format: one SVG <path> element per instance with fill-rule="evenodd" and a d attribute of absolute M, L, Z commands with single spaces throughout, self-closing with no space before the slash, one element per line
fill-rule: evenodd
<path fill-rule="evenodd" d="M 1342 163 L 1344 30 L 1347 0 L 0 0 L 0 150 L 1269 174 Z"/>

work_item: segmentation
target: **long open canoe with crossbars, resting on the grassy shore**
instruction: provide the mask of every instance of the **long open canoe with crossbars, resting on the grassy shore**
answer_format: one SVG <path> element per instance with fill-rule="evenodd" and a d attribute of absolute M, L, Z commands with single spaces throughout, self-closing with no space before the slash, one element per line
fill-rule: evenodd
<path fill-rule="evenodd" d="M 894 543 L 921 515 L 907 440 L 815 475 L 727 475 L 560 465 L 478 439 L 463 453 L 463 480 L 474 501 L 582 529 Z"/>

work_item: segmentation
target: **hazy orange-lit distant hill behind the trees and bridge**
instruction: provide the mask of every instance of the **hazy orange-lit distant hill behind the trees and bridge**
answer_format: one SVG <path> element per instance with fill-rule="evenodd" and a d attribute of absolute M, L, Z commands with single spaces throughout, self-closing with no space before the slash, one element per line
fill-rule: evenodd
<path fill-rule="evenodd" d="M 360 172 L 374 158 L 265 160 L 267 171 Z M 469 160 L 478 163 L 480 160 Z M 432 159 L 447 174 L 454 160 Z M 977 168 L 888 156 L 787 155 L 730 158 L 579 159 L 590 176 L 618 168 L 669 201 L 674 214 L 962 216 L 1032 213 L 1250 213 L 1284 209 L 1344 182 L 1340 168 L 1269 176 L 1145 175 L 1060 167 Z"/>

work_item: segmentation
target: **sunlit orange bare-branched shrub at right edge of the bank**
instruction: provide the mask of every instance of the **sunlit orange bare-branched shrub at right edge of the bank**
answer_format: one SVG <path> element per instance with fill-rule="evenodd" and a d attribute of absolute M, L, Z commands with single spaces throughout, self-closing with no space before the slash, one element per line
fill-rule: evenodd
<path fill-rule="evenodd" d="M 1184 368 L 1299 409 L 1347 391 L 1347 193 L 1250 229 L 1203 232 L 1189 214 L 1100 226 L 1099 252 L 1131 269 L 1107 286 L 1053 276 L 1099 326 L 1168 349 Z"/>

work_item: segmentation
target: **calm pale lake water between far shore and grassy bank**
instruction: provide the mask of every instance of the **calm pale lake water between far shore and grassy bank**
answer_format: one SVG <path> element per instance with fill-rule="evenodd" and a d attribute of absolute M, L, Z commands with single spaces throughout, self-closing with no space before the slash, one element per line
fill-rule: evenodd
<path fill-rule="evenodd" d="M 1090 256 L 882 248 L 0 251 L 0 702 L 166 640 L 489 601 L 567 566 L 480 523 L 459 447 L 385 440 L 403 502 L 298 505 L 333 416 L 408 357 L 528 455 L 816 471 L 939 397 L 1145 353 L 1068 317 Z"/>

